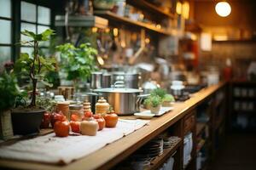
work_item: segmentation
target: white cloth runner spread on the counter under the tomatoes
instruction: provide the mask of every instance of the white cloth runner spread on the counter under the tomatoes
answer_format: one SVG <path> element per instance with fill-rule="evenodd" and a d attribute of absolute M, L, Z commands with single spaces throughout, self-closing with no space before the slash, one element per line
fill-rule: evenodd
<path fill-rule="evenodd" d="M 0 148 L 0 157 L 20 161 L 69 163 L 101 149 L 145 126 L 149 121 L 119 119 L 117 127 L 105 127 L 96 136 L 55 137 L 55 133 L 27 139 Z"/>

